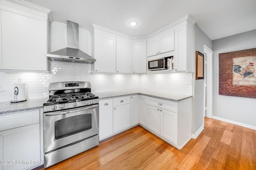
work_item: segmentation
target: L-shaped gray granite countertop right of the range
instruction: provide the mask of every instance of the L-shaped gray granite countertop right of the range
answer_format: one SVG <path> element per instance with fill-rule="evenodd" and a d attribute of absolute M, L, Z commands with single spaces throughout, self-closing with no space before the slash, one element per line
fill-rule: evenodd
<path fill-rule="evenodd" d="M 95 96 L 99 97 L 99 100 L 108 99 L 108 98 L 117 98 L 122 96 L 131 96 L 131 95 L 144 95 L 152 98 L 158 98 L 162 100 L 168 100 L 172 102 L 180 102 L 182 100 L 192 98 L 192 95 L 182 95 L 182 94 L 171 94 L 165 92 L 159 92 L 155 90 L 145 90 L 145 89 L 133 89 L 133 90 L 120 90 L 120 91 L 111 91 L 111 92 L 92 92 Z"/>

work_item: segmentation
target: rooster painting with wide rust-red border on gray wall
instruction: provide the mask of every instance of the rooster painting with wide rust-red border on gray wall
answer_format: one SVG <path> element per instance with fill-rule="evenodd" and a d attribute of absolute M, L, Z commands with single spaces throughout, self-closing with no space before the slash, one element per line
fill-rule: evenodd
<path fill-rule="evenodd" d="M 219 54 L 219 94 L 256 98 L 256 48 Z"/>

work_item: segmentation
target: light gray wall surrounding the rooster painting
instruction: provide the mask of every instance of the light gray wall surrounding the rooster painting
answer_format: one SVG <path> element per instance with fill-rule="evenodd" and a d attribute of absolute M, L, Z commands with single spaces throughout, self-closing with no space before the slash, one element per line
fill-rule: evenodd
<path fill-rule="evenodd" d="M 222 96 L 219 89 L 219 53 L 256 48 L 256 29 L 212 41 L 213 116 L 256 127 L 256 99 Z"/>

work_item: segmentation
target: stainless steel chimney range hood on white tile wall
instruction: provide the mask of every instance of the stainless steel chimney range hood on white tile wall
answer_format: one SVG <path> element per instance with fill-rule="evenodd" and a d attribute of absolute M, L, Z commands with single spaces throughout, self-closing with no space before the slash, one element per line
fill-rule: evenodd
<path fill-rule="evenodd" d="M 67 48 L 46 54 L 50 61 L 92 64 L 96 59 L 79 50 L 78 23 L 67 21 Z"/>

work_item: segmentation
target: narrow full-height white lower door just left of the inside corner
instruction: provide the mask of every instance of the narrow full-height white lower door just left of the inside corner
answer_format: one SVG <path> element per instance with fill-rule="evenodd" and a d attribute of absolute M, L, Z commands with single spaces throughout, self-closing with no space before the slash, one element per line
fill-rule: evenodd
<path fill-rule="evenodd" d="M 130 96 L 130 125 L 139 123 L 139 95 Z"/>

